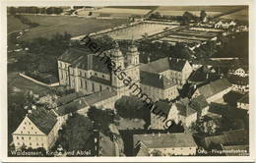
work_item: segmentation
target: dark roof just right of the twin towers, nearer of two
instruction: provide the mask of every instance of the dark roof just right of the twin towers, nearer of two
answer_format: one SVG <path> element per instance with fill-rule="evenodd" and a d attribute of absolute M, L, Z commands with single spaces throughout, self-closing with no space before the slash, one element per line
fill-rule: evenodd
<path fill-rule="evenodd" d="M 166 89 L 175 85 L 175 83 L 173 83 L 172 81 L 169 81 L 164 76 L 160 76 L 158 74 L 141 71 L 140 75 L 141 83 L 146 85 L 150 85 L 161 89 Z"/>

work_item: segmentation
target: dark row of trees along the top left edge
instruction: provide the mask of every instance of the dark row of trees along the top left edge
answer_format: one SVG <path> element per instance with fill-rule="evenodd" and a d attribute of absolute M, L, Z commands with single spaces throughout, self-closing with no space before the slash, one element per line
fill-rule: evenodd
<path fill-rule="evenodd" d="M 60 7 L 10 7 L 7 11 L 11 15 L 15 14 L 61 14 L 63 9 Z"/>

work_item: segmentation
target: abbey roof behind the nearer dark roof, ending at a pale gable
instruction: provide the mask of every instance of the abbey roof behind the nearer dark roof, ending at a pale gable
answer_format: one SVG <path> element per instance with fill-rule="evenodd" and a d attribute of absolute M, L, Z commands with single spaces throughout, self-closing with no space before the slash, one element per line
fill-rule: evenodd
<path fill-rule="evenodd" d="M 174 70 L 181 72 L 186 64 L 186 60 L 174 58 L 161 58 L 157 61 L 144 64 L 141 66 L 141 71 L 161 73 L 167 70 Z"/>

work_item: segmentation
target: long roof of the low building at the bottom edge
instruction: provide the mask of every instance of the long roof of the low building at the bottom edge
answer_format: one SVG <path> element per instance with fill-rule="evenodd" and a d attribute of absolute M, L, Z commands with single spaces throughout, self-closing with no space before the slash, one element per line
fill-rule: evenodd
<path fill-rule="evenodd" d="M 142 141 L 148 148 L 196 147 L 193 136 L 184 133 L 134 135 L 134 146 Z"/>

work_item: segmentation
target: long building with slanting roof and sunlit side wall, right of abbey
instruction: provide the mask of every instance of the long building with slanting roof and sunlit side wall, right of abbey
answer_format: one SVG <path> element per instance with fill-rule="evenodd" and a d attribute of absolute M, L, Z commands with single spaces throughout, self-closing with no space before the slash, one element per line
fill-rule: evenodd
<path fill-rule="evenodd" d="M 193 93 L 192 98 L 203 95 L 206 98 L 207 102 L 211 103 L 215 100 L 222 98 L 224 94 L 226 94 L 230 90 L 230 82 L 223 78 L 220 80 L 211 81 L 210 83 L 198 87 Z"/>

